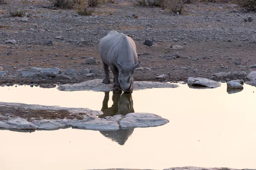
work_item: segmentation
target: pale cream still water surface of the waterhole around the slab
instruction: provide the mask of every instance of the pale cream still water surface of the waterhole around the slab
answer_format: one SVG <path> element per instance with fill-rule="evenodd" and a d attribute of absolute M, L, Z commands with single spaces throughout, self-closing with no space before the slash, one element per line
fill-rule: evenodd
<path fill-rule="evenodd" d="M 169 167 L 256 168 L 255 87 L 227 94 L 215 89 L 160 88 L 134 91 L 135 112 L 169 119 L 160 127 L 135 128 L 120 145 L 99 131 L 60 129 L 21 133 L 0 130 L 0 170 L 86 170 Z M 101 110 L 104 92 L 1 87 L 0 102 Z M 111 100 L 112 92 L 110 93 Z M 110 107 L 112 101 L 108 102 Z"/>

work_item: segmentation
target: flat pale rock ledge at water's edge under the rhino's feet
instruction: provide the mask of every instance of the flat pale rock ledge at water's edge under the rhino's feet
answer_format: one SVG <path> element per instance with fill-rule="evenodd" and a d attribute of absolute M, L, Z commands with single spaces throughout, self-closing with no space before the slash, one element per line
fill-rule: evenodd
<path fill-rule="evenodd" d="M 57 89 L 60 91 L 113 91 L 113 84 L 104 84 L 102 79 L 93 79 L 86 82 L 75 83 L 75 84 L 65 84 L 59 86 Z M 141 90 L 147 88 L 176 88 L 178 85 L 168 84 L 162 82 L 146 82 L 139 81 L 134 82 L 133 90 Z"/>

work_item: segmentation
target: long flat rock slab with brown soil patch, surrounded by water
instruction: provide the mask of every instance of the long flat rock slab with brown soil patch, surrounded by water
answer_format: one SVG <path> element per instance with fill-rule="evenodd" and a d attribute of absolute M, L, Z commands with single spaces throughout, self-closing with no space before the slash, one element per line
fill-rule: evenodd
<path fill-rule="evenodd" d="M 119 130 L 164 125 L 169 120 L 151 113 L 128 113 L 105 118 L 102 111 L 44 105 L 0 102 L 0 128 L 9 130 L 56 130 L 73 127 L 86 130 Z"/>

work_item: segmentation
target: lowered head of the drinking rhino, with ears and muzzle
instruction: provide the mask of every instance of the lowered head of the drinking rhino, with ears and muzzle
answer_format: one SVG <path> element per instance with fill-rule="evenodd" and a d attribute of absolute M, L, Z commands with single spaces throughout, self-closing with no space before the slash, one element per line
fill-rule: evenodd
<path fill-rule="evenodd" d="M 120 87 L 123 92 L 130 93 L 132 92 L 132 86 L 134 81 L 134 70 L 140 64 L 140 62 L 137 62 L 135 65 L 125 65 L 117 61 L 117 64 L 119 65 L 118 81 Z"/>

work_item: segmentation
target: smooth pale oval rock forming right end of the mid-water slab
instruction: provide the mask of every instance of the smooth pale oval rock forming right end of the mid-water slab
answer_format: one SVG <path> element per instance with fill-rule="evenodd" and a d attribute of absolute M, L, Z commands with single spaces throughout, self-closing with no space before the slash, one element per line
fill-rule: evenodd
<path fill-rule="evenodd" d="M 152 113 L 128 113 L 125 118 L 119 122 L 122 129 L 131 129 L 135 127 L 155 127 L 168 123 L 168 119 Z"/>

